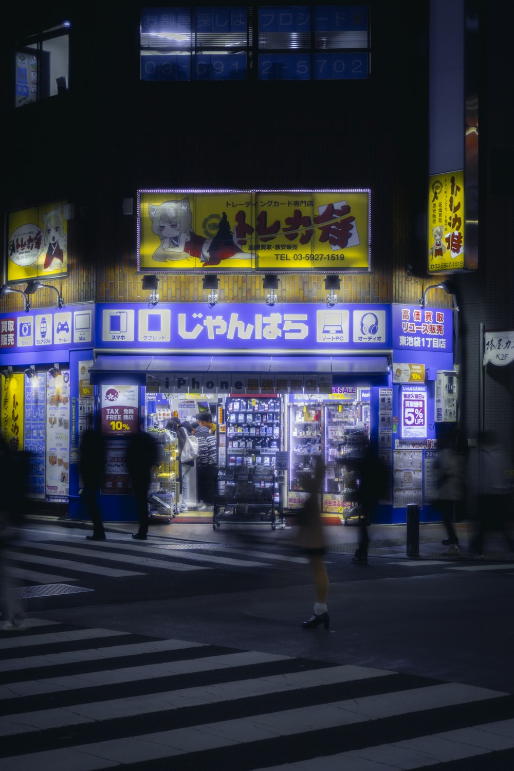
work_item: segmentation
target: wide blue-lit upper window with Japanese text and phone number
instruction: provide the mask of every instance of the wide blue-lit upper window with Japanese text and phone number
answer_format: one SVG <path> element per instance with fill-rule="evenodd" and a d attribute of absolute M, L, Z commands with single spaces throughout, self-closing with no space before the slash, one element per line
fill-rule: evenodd
<path fill-rule="evenodd" d="M 142 80 L 365 79 L 367 5 L 143 8 Z"/>

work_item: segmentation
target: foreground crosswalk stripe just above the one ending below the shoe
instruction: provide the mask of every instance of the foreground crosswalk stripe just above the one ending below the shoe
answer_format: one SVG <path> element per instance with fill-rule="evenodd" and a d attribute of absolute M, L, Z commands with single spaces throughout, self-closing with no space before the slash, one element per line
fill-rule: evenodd
<path fill-rule="evenodd" d="M 32 624 L 33 619 L 31 619 Z M 18 640 L 19 638 L 15 638 Z M 86 638 L 87 639 L 87 638 Z M 79 664 L 82 662 L 98 661 L 106 658 L 123 658 L 125 656 L 139 656 L 146 653 L 160 653 L 162 651 L 179 651 L 184 648 L 205 648 L 202 642 L 190 642 L 185 640 L 155 640 L 151 642 L 133 642 L 124 645 L 113 645 L 108 648 L 91 648 L 81 651 L 60 651 L 45 655 L 29 656 L 27 658 L 0 661 L 0 672 L 15 672 L 20 669 L 39 669 L 66 664 Z"/>

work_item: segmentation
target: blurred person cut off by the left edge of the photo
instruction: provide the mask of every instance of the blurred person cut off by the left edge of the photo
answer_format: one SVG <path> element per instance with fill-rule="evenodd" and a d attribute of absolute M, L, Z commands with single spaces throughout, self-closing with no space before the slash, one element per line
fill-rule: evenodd
<path fill-rule="evenodd" d="M 0 436 L 0 607 L 3 631 L 29 628 L 29 619 L 15 597 L 9 551 L 19 537 L 26 505 L 26 483 L 29 455 L 13 452 Z"/>

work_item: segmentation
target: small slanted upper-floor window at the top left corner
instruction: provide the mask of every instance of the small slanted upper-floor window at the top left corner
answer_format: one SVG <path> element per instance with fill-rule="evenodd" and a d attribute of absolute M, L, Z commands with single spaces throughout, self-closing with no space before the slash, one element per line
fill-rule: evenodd
<path fill-rule="evenodd" d="M 69 22 L 18 42 L 15 49 L 15 107 L 66 91 L 69 79 Z"/>

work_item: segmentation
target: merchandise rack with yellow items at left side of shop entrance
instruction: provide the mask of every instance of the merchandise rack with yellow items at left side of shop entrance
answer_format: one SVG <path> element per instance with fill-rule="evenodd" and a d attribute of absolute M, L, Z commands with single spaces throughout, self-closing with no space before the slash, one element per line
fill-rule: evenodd
<path fill-rule="evenodd" d="M 166 429 L 149 429 L 159 445 L 158 466 L 153 466 L 150 477 L 148 503 L 153 520 L 163 518 L 171 522 L 178 512 L 179 449 L 176 433 Z"/>

